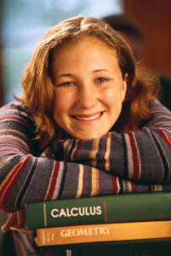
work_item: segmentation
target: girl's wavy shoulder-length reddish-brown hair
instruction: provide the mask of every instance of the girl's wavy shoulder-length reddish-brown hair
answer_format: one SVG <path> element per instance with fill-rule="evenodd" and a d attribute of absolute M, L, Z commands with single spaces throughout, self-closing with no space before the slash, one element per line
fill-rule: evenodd
<path fill-rule="evenodd" d="M 77 16 L 54 26 L 38 44 L 22 80 L 24 94 L 20 99 L 35 119 L 37 138 L 41 148 L 47 148 L 59 138 L 60 127 L 52 113 L 54 85 L 50 79 L 50 65 L 54 55 L 67 44 L 74 44 L 84 36 L 96 37 L 108 44 L 117 54 L 123 79 L 128 73 L 128 90 L 123 110 L 112 131 L 139 130 L 142 119 L 151 119 L 151 106 L 157 98 L 157 83 L 149 73 L 137 67 L 132 50 L 122 36 L 103 20 Z"/>

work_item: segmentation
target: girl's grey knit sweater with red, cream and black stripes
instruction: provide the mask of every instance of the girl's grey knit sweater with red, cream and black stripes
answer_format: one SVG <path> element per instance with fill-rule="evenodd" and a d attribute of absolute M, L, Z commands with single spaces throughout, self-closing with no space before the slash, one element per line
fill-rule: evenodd
<path fill-rule="evenodd" d="M 40 152 L 24 106 L 0 109 L 0 208 L 28 202 L 171 190 L 171 113 L 159 102 L 140 131 L 59 140 Z M 15 232 L 17 255 L 38 255 L 32 235 Z"/>

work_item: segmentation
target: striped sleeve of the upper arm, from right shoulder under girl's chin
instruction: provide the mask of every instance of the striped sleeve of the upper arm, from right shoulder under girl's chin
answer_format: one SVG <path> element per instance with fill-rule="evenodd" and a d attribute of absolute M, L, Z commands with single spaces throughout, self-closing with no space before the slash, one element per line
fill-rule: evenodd
<path fill-rule="evenodd" d="M 141 183 L 171 183 L 171 113 L 159 102 L 152 113 L 154 118 L 140 131 L 109 132 L 94 140 L 58 141 L 49 153 Z"/>

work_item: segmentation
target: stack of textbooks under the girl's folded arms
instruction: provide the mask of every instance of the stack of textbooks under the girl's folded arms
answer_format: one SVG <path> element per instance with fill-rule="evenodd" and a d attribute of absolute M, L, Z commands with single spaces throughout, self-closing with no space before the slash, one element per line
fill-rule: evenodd
<path fill-rule="evenodd" d="M 108 195 L 26 205 L 42 256 L 170 256 L 171 193 Z"/>

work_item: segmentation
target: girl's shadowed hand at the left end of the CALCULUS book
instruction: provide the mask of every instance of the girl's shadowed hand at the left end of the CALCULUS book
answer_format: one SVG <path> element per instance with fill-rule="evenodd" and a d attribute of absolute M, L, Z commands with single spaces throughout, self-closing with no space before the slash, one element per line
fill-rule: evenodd
<path fill-rule="evenodd" d="M 21 209 L 18 212 L 12 212 L 9 215 L 9 219 L 4 224 L 2 230 L 9 231 L 10 227 L 21 228 L 24 226 L 26 220 L 26 209 Z"/>

